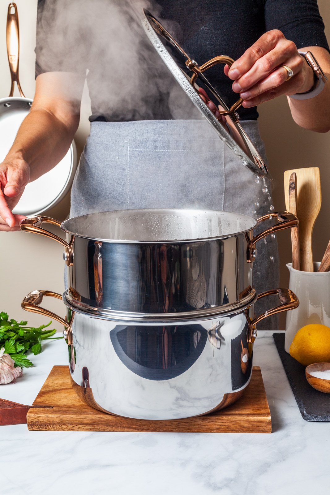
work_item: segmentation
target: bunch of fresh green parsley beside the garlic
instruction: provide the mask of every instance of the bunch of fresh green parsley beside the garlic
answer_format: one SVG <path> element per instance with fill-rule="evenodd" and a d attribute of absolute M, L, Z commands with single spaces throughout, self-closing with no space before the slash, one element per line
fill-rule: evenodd
<path fill-rule="evenodd" d="M 15 366 L 24 366 L 28 368 L 33 366 L 33 363 L 27 358 L 26 354 L 30 350 L 34 355 L 40 354 L 42 351 L 41 341 L 51 339 L 56 329 L 45 330 L 49 327 L 51 321 L 47 325 L 41 325 L 38 328 L 28 327 L 27 321 L 10 319 L 7 313 L 0 313 L 0 349 L 4 347 L 4 352 L 9 354 L 15 361 Z M 62 339 L 56 337 L 54 339 Z"/>

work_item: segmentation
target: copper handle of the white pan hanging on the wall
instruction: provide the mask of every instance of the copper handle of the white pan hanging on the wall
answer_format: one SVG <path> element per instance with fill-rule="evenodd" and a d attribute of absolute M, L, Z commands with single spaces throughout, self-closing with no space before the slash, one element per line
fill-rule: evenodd
<path fill-rule="evenodd" d="M 12 10 L 14 10 L 12 12 Z M 21 85 L 18 78 L 18 62 L 19 62 L 19 24 L 18 24 L 18 13 L 16 3 L 9 3 L 8 14 L 7 14 L 7 28 L 6 28 L 6 38 L 7 38 L 7 55 L 11 76 L 11 88 L 9 97 L 14 94 L 14 83 L 16 81 L 19 94 L 22 98 L 24 93 L 22 91 Z"/>

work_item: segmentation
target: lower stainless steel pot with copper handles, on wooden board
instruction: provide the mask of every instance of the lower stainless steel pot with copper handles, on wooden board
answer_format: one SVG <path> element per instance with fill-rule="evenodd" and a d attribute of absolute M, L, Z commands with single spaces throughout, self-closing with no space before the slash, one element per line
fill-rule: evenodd
<path fill-rule="evenodd" d="M 277 289 L 281 304 L 253 317 L 254 296 L 235 311 L 189 319 L 106 319 L 67 305 L 63 319 L 40 306 L 51 291 L 34 291 L 27 311 L 65 326 L 73 389 L 91 406 L 131 418 L 165 420 L 216 411 L 242 396 L 252 373 L 255 325 L 298 306 L 297 297 Z"/>

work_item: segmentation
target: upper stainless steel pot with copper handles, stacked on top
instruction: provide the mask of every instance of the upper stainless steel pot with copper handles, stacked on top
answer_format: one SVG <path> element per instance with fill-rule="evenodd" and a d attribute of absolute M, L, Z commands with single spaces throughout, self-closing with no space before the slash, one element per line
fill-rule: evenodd
<path fill-rule="evenodd" d="M 253 236 L 265 220 L 278 223 Z M 58 225 L 66 241 L 41 227 Z M 254 296 L 252 263 L 258 240 L 297 225 L 288 212 L 258 220 L 212 210 L 140 209 L 92 213 L 66 220 L 27 218 L 21 229 L 61 243 L 68 303 L 112 318 L 233 311 Z"/>

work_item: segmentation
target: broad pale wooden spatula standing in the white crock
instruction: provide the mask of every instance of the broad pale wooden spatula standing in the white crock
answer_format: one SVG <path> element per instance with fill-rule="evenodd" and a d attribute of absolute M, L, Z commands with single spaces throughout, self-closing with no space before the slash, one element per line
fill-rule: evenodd
<path fill-rule="evenodd" d="M 321 208 L 321 181 L 318 167 L 297 168 L 284 172 L 285 205 L 289 209 L 289 181 L 296 174 L 299 219 L 300 269 L 313 272 L 312 233 Z"/>

